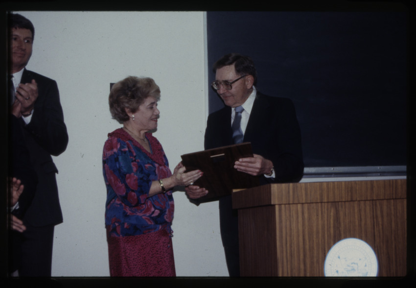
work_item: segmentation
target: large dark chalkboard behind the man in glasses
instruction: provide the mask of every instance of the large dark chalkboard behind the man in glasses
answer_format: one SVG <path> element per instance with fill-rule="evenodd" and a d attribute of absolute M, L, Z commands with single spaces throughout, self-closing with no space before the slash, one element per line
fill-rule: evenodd
<path fill-rule="evenodd" d="M 257 90 L 295 104 L 306 168 L 405 167 L 407 29 L 401 11 L 210 11 L 208 81 L 221 56 L 251 56 Z"/>

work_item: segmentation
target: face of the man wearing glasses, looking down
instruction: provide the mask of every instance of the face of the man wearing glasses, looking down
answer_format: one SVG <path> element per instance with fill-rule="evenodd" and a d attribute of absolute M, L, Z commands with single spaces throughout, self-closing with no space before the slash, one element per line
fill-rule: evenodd
<path fill-rule="evenodd" d="M 234 64 L 229 66 L 224 66 L 217 69 L 215 73 L 216 81 L 234 81 L 235 79 L 241 77 L 235 72 Z M 237 107 L 242 105 L 251 94 L 251 88 L 253 86 L 252 82 L 253 76 L 248 75 L 241 78 L 232 84 L 232 89 L 227 90 L 220 85 L 220 89 L 217 90 L 218 95 L 223 99 L 224 103 L 230 107 Z"/>

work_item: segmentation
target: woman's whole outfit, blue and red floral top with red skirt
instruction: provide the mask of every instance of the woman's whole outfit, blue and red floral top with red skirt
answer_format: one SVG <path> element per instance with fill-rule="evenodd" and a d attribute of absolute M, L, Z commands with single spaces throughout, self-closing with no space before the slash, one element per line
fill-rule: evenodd
<path fill-rule="evenodd" d="M 146 138 L 151 153 L 122 128 L 109 133 L 104 144 L 105 225 L 111 276 L 175 276 L 172 190 L 149 197 L 152 181 L 167 178 L 172 172 L 159 141 L 150 133 Z M 160 244 L 154 247 L 155 241 Z"/>

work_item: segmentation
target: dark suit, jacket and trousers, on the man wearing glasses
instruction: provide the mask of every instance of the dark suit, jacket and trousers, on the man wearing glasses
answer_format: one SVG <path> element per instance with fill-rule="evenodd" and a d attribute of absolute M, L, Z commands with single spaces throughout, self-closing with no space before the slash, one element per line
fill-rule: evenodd
<path fill-rule="evenodd" d="M 258 176 L 260 185 L 297 182 L 303 174 L 300 127 L 295 106 L 287 98 L 265 96 L 257 92 L 243 142 L 251 142 L 254 154 L 273 162 L 276 178 Z M 231 107 L 210 114 L 205 130 L 205 149 L 233 144 Z M 218 201 L 221 239 L 229 273 L 239 276 L 238 217 L 232 209 L 231 195 Z"/>

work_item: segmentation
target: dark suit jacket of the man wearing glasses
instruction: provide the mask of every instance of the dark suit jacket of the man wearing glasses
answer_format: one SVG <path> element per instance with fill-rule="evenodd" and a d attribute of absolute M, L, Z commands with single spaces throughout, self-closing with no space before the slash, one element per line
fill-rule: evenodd
<path fill-rule="evenodd" d="M 297 182 L 302 177 L 300 127 L 290 99 L 257 92 L 243 142 L 251 142 L 254 154 L 273 162 L 276 178 L 259 176 L 260 184 Z M 208 116 L 205 149 L 231 144 L 231 107 L 225 106 Z"/>

